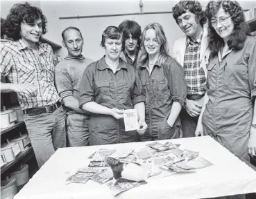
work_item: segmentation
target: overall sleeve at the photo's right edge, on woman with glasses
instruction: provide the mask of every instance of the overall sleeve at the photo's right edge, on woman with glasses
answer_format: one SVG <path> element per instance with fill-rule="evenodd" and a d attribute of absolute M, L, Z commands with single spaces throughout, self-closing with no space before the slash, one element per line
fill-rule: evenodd
<path fill-rule="evenodd" d="M 253 102 L 255 102 L 256 97 L 256 42 L 249 50 L 249 59 L 248 59 L 248 75 L 249 75 L 249 85 L 250 93 Z"/>

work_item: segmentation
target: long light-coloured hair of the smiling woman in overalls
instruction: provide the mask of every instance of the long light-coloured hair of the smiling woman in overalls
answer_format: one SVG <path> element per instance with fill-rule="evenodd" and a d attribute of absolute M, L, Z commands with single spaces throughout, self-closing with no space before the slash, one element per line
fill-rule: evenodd
<path fill-rule="evenodd" d="M 164 28 L 159 23 L 150 23 L 142 32 L 142 51 L 139 57 L 139 62 L 142 64 L 145 64 L 148 60 L 148 53 L 146 52 L 144 41 L 146 37 L 146 30 L 153 29 L 155 30 L 155 35 L 157 41 L 161 44 L 160 47 L 160 55 L 158 57 L 158 61 L 160 66 L 164 66 L 164 62 L 167 60 L 168 57 L 171 57 L 169 55 L 169 44 L 167 41 L 167 37 L 164 34 Z"/>

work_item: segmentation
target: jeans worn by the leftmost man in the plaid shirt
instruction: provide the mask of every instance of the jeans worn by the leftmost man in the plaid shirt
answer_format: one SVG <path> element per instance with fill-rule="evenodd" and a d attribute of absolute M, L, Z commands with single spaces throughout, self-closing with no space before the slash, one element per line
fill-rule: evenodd
<path fill-rule="evenodd" d="M 58 148 L 66 147 L 65 111 L 62 106 L 53 113 L 25 114 L 24 122 L 38 167 L 42 167 Z"/>

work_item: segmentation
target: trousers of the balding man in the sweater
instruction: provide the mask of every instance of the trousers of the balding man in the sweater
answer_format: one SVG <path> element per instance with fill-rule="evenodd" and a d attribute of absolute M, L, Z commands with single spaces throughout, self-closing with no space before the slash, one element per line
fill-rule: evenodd
<path fill-rule="evenodd" d="M 89 140 L 89 115 L 67 115 L 67 136 L 69 146 L 86 146 Z"/>

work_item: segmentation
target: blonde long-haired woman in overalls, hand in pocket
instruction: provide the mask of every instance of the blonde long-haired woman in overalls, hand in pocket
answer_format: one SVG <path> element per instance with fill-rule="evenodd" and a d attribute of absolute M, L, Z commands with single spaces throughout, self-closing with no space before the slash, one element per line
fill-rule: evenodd
<path fill-rule="evenodd" d="M 142 53 L 137 66 L 146 96 L 148 129 L 142 141 L 182 137 L 178 115 L 184 105 L 187 84 L 180 64 L 169 56 L 169 45 L 159 23 L 142 33 Z"/>

